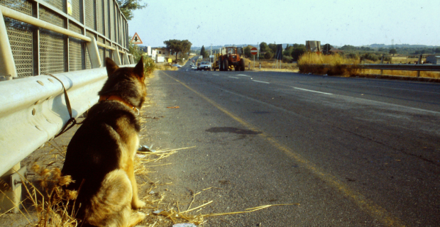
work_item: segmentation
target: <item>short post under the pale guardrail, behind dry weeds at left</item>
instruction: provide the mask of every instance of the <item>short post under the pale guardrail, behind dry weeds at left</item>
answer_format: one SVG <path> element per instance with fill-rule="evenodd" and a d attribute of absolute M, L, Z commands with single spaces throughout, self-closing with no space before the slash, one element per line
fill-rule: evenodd
<path fill-rule="evenodd" d="M 3 176 L 0 177 L 2 182 L 13 184 L 13 182 L 11 182 L 10 180 L 11 175 L 18 172 L 18 170 L 20 170 L 20 162 L 18 162 L 17 165 L 14 165 L 11 170 L 9 170 Z M 17 214 L 21 202 L 21 186 L 20 187 L 14 187 L 15 185 L 8 185 L 8 186 L 9 186 L 8 190 L 4 190 L 3 187 L 0 187 L 2 189 L 2 192 L 4 192 L 4 194 L 3 193 L 0 194 L 0 213 L 4 213 L 5 211 L 9 211 L 12 209 L 11 211 L 13 211 L 14 214 Z"/>

